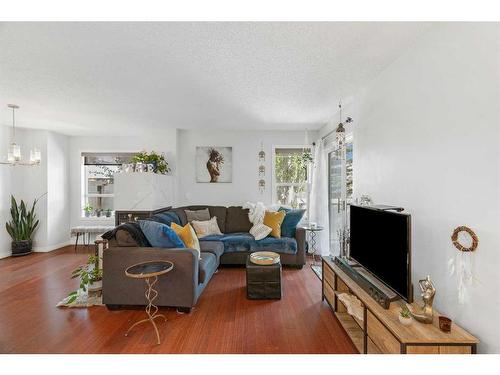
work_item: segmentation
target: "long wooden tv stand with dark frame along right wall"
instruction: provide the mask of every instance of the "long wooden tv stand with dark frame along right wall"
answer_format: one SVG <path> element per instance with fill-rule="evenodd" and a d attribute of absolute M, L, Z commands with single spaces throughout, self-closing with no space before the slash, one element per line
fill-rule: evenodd
<path fill-rule="evenodd" d="M 439 313 L 434 322 L 424 324 L 414 320 L 404 326 L 399 312 L 404 301 L 391 302 L 388 310 L 359 287 L 331 259 L 323 257 L 322 299 L 328 302 L 347 335 L 363 354 L 474 354 L 478 339 L 453 322 L 451 332 L 439 329 Z M 355 295 L 363 306 L 363 320 L 347 313 L 337 297 L 341 293 Z"/>

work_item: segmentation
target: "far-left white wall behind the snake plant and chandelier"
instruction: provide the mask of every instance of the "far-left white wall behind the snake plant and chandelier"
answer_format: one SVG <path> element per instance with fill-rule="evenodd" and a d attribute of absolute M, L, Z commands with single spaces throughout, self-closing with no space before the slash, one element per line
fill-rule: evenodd
<path fill-rule="evenodd" d="M 0 127 L 0 157 L 5 160 L 11 142 L 11 128 Z M 40 149 L 39 166 L 0 166 L 0 257 L 9 256 L 11 238 L 4 223 L 10 220 L 10 196 L 19 202 L 23 199 L 31 207 L 34 199 L 40 224 L 33 237 L 34 251 L 50 251 L 69 241 L 68 213 L 68 137 L 46 130 L 17 129 L 16 142 L 21 145 L 23 159 L 29 159 L 29 151 Z M 49 209 L 50 207 L 50 209 Z"/>

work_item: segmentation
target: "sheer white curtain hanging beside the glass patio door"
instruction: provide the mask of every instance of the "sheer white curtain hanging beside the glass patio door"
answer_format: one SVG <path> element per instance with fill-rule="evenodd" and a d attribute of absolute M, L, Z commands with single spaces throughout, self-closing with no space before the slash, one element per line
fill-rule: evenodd
<path fill-rule="evenodd" d="M 312 167 L 310 221 L 324 229 L 317 232 L 317 248 L 321 255 L 330 254 L 330 225 L 328 211 L 328 153 L 323 140 L 316 142 Z"/>

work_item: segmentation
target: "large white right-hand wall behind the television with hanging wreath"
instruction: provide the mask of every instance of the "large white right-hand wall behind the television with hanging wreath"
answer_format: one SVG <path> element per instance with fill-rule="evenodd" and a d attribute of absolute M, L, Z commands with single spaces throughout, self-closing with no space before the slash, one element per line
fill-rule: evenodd
<path fill-rule="evenodd" d="M 354 193 L 412 214 L 413 283 L 429 274 L 435 307 L 500 352 L 500 28 L 441 24 L 354 98 Z M 459 304 L 450 236 L 479 236 Z M 383 256 L 383 234 L 374 246 Z M 380 244 L 380 245 L 378 245 Z M 418 295 L 418 288 L 415 293 Z"/>

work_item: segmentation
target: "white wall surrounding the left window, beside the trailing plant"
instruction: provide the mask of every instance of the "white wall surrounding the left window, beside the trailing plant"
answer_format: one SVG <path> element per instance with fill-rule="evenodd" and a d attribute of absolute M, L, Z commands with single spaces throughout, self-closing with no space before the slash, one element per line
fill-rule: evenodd
<path fill-rule="evenodd" d="M 164 152 L 175 174 L 176 130 L 165 129 L 137 136 L 70 137 L 70 210 L 71 226 L 113 225 L 112 218 L 82 218 L 81 154 L 82 152 L 137 152 L 141 150 Z"/>

